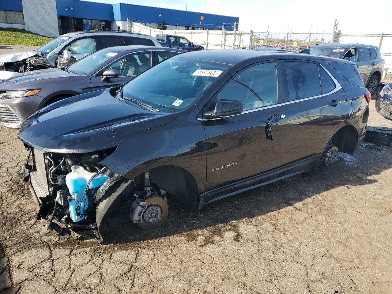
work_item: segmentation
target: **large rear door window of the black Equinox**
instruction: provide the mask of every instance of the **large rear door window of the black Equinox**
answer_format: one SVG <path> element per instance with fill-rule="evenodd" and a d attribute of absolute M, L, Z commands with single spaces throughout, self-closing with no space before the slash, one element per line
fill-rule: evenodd
<path fill-rule="evenodd" d="M 318 65 L 310 62 L 285 62 L 289 101 L 321 95 Z"/>

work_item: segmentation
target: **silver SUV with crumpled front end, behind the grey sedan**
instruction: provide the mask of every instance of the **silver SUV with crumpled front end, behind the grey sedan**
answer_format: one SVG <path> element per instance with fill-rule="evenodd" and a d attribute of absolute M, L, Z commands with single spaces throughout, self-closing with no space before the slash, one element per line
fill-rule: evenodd
<path fill-rule="evenodd" d="M 76 61 L 97 50 L 121 45 L 161 46 L 156 38 L 128 31 L 67 33 L 36 50 L 0 55 L 0 81 L 18 73 L 56 67 L 64 51 L 69 51 L 71 61 Z"/>

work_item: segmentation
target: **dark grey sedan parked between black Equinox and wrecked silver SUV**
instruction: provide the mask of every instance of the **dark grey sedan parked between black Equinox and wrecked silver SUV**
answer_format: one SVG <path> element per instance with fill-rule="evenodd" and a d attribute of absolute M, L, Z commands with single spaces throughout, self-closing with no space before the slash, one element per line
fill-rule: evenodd
<path fill-rule="evenodd" d="M 182 52 L 186 51 L 155 46 L 109 47 L 69 67 L 27 72 L 0 82 L 0 125 L 19 128 L 42 107 L 129 82 L 152 65 Z"/>

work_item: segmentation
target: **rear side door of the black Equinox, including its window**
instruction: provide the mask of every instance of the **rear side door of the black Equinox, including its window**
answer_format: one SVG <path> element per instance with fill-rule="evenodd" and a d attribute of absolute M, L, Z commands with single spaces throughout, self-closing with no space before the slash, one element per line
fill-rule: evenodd
<path fill-rule="evenodd" d="M 285 73 L 288 95 L 283 113 L 287 129 L 281 151 L 290 152 L 292 162 L 306 158 L 312 162 L 343 123 L 346 96 L 332 74 L 315 62 L 285 61 Z M 291 171 L 281 171 L 283 175 L 285 172 Z"/>

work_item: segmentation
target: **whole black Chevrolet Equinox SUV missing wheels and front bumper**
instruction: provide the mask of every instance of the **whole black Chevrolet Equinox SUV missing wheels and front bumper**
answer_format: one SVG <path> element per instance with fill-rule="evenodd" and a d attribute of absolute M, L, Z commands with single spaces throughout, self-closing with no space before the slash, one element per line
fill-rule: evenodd
<path fill-rule="evenodd" d="M 370 93 L 356 65 L 299 53 L 183 53 L 125 85 L 49 105 L 24 121 L 23 167 L 38 218 L 102 240 L 111 207 L 151 229 L 166 195 L 194 209 L 353 153 Z M 60 236 L 67 228 L 50 227 Z"/>

